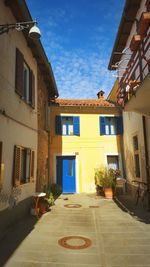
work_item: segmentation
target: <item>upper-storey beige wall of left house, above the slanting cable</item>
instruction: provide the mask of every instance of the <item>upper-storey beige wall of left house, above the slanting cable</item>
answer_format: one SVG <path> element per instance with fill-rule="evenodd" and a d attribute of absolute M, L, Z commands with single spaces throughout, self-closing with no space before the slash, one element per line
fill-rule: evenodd
<path fill-rule="evenodd" d="M 15 19 L 3 1 L 0 1 L 0 24 L 14 23 Z M 21 32 L 16 30 L 4 33 L 0 39 L 0 108 L 19 121 L 37 128 L 37 100 L 35 109 L 24 103 L 15 92 L 16 47 L 24 55 L 24 59 L 37 77 L 37 64 L 27 42 Z M 35 79 L 37 87 L 37 79 Z M 35 99 L 37 99 L 37 90 Z M 7 101 L 6 101 L 7 100 Z"/>

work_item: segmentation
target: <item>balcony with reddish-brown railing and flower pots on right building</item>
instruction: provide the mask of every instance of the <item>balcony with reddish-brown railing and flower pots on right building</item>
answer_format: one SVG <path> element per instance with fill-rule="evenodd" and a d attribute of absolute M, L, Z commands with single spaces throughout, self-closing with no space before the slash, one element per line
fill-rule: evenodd
<path fill-rule="evenodd" d="M 144 96 L 142 96 L 141 99 L 145 98 L 145 89 L 143 89 L 143 84 L 145 84 L 145 80 L 147 80 L 150 73 L 149 47 L 150 34 L 147 34 L 140 41 L 138 50 L 133 51 L 126 70 L 123 72 L 123 77 L 119 81 L 117 99 L 118 103 L 125 108 L 131 99 L 133 99 L 134 102 L 137 101 L 137 93 L 139 95 L 139 91 L 141 91 L 141 89 L 144 92 Z M 150 99 L 149 97 L 148 99 Z M 142 103 L 144 102 L 142 101 Z"/>

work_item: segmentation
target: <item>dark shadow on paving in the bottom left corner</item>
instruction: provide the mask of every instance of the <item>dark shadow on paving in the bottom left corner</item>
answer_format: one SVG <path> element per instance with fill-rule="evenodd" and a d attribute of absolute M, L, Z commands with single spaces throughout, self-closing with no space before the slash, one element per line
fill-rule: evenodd
<path fill-rule="evenodd" d="M 5 236 L 0 240 L 0 266 L 5 265 L 21 242 L 34 229 L 36 222 L 35 217 L 28 216 L 8 229 Z"/>

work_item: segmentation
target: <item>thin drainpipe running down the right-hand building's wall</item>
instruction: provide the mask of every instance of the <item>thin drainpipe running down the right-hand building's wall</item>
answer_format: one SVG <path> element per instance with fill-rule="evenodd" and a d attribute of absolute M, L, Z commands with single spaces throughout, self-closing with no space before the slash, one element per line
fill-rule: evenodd
<path fill-rule="evenodd" d="M 147 144 L 147 133 L 146 133 L 146 117 L 142 116 L 143 121 L 143 135 L 144 135 L 144 149 L 145 149 L 145 162 L 146 162 L 146 179 L 148 188 L 148 210 L 150 210 L 150 172 L 149 172 L 149 154 Z"/>

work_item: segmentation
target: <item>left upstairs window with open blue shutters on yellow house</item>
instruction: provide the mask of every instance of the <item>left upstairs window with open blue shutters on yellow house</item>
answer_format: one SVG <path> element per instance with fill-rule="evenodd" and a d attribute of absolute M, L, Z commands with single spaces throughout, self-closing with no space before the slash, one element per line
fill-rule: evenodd
<path fill-rule="evenodd" d="M 56 116 L 57 135 L 80 135 L 80 118 L 78 116 Z"/>

